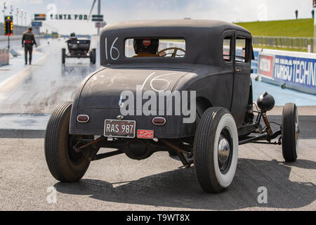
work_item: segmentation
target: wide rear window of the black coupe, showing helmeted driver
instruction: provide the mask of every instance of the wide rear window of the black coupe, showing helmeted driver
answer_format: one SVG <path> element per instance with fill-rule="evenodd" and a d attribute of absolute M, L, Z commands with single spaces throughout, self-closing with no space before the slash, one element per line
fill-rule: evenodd
<path fill-rule="evenodd" d="M 127 58 L 184 58 L 185 39 L 126 39 L 125 56 Z"/>

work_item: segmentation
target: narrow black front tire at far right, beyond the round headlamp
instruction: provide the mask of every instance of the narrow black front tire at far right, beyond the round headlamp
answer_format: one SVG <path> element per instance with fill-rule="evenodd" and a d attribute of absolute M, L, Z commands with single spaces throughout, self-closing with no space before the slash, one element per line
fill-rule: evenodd
<path fill-rule="evenodd" d="M 287 103 L 282 112 L 282 153 L 286 162 L 296 161 L 298 138 L 298 110 L 294 103 Z"/>

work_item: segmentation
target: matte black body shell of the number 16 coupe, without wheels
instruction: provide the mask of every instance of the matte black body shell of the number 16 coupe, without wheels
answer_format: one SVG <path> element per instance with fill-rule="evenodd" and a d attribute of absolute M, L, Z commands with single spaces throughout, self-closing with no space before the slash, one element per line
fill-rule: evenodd
<path fill-rule="evenodd" d="M 148 27 L 148 25 L 154 26 Z M 183 38 L 186 44 L 185 58 L 126 58 L 125 40 L 137 37 Z M 246 63 L 223 60 L 223 39 L 244 37 Z M 115 41 L 119 51 L 105 53 Z M 216 43 L 216 44 L 211 44 Z M 234 41 L 232 41 L 234 44 Z M 233 46 L 232 46 L 233 49 Z M 197 103 L 204 107 L 221 106 L 227 108 L 236 120 L 237 127 L 244 123 L 247 105 L 252 104 L 251 93 L 251 34 L 242 27 L 209 20 L 162 20 L 134 23 L 118 23 L 105 27 L 100 37 L 102 67 L 88 76 L 74 98 L 72 108 L 71 134 L 103 135 L 104 120 L 115 119 L 119 113 L 119 99 L 122 90 L 129 84 L 129 90 L 136 91 L 147 77 L 143 91 L 150 90 L 150 81 L 160 75 L 176 73 L 164 77 L 168 79 L 169 91 L 197 91 Z M 108 56 L 107 56 L 108 55 Z M 108 58 L 107 58 L 107 57 Z M 112 81 L 114 82 L 112 83 Z M 96 82 L 97 80 L 97 82 Z M 110 85 L 111 84 L 111 85 Z M 110 86 L 109 86 L 110 85 Z M 77 122 L 77 115 L 89 115 L 91 121 Z M 154 126 L 154 116 L 129 116 L 126 120 L 136 120 L 137 127 L 154 130 L 157 138 L 184 138 L 195 135 L 195 124 L 183 124 L 182 117 L 166 118 L 166 125 Z"/>

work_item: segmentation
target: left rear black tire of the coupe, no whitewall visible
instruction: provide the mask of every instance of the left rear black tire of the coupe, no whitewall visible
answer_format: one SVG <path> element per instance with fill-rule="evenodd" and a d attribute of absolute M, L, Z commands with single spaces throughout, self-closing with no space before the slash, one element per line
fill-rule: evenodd
<path fill-rule="evenodd" d="M 79 181 L 90 165 L 82 153 L 73 149 L 82 136 L 69 134 L 71 110 L 71 102 L 58 105 L 48 121 L 45 134 L 48 169 L 55 179 L 62 182 Z"/>

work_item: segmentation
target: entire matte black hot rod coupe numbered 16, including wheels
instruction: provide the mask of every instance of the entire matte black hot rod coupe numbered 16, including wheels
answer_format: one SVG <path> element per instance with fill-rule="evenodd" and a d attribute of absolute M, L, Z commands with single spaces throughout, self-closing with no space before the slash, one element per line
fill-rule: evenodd
<path fill-rule="evenodd" d="M 194 165 L 204 191 L 219 193 L 235 176 L 239 145 L 279 144 L 284 159 L 294 162 L 298 110 L 287 103 L 282 124 L 272 131 L 267 112 L 274 98 L 265 92 L 253 101 L 251 39 L 244 28 L 216 20 L 107 25 L 100 35 L 100 69 L 84 79 L 74 101 L 59 105 L 48 122 L 45 155 L 51 174 L 74 182 L 94 160 L 121 153 L 143 160 L 169 151 L 183 167 Z M 133 95 L 139 91 L 162 95 L 166 104 L 154 107 L 158 98 L 145 94 L 138 101 Z M 189 92 L 195 98 L 179 101 L 181 93 Z M 149 99 L 152 104 L 146 108 Z M 183 105 L 190 105 L 195 120 L 185 122 L 188 114 L 177 113 Z M 123 108 L 131 113 L 122 113 Z M 100 148 L 114 150 L 98 153 Z"/>

